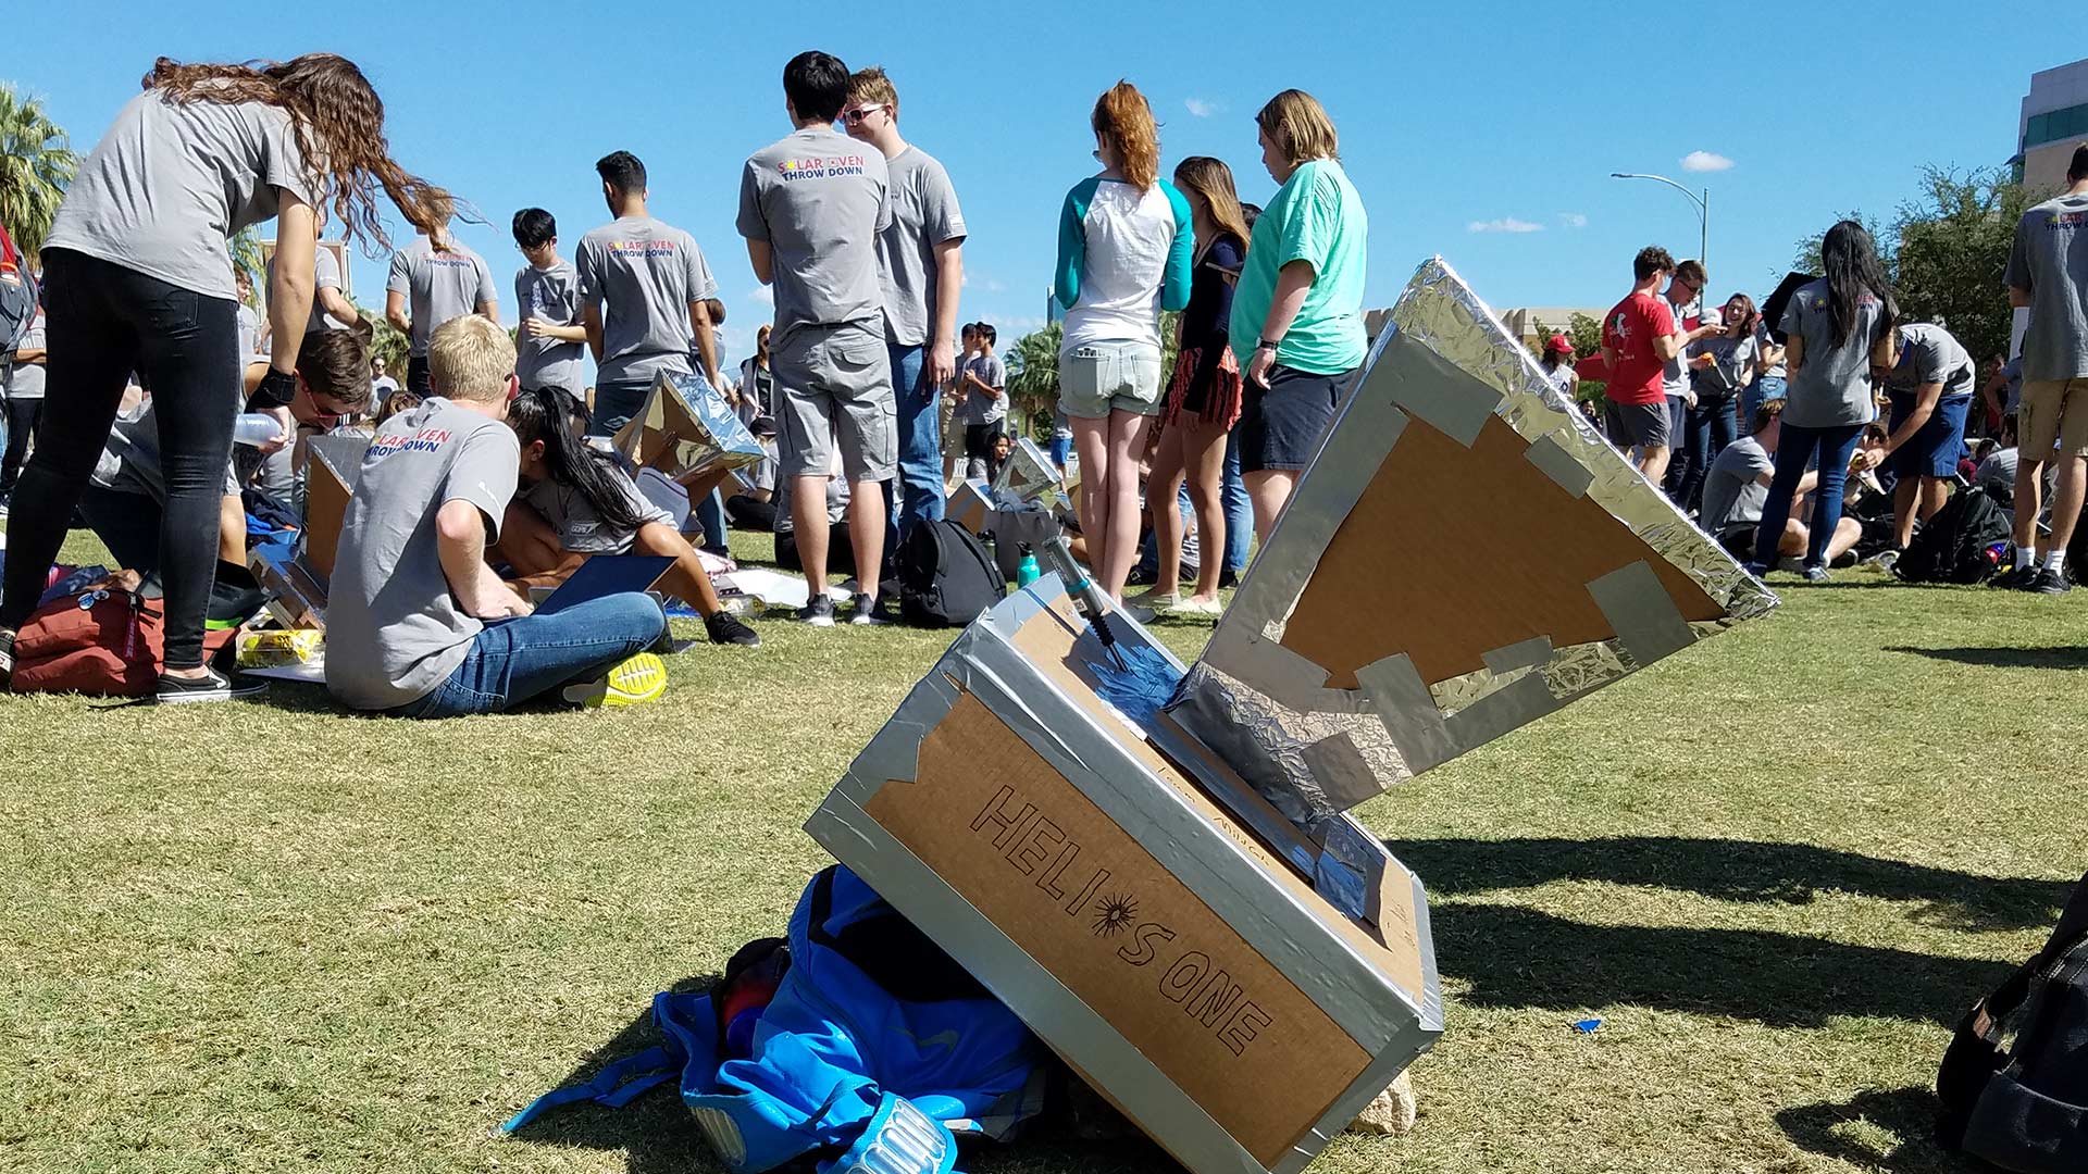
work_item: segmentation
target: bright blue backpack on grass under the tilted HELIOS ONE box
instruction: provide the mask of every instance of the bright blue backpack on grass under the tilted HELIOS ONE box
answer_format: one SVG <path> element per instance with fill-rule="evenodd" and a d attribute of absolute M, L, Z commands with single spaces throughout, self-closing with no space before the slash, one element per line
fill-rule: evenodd
<path fill-rule="evenodd" d="M 750 1013 L 758 1024 L 731 1032 Z M 654 1026 L 660 1047 L 543 1095 L 501 1130 L 677 1082 L 735 1174 L 814 1153 L 841 1155 L 821 1170 L 950 1174 L 956 1136 L 1013 1136 L 1044 1107 L 1050 1072 L 1013 1011 L 839 865 L 806 886 L 787 944 L 748 944 L 706 994 L 654 996 Z"/>

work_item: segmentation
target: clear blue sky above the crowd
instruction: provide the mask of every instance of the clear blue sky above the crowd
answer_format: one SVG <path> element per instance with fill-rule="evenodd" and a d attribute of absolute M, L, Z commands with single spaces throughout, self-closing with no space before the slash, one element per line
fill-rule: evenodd
<path fill-rule="evenodd" d="M 2053 25 L 2015 4 L 1812 4 L 1802 21 L 1773 6 L 1670 8 L 1660 50 L 1641 6 L 1276 8 L 1309 19 L 1272 25 L 1270 4 L 1232 0 L 361 0 L 347 17 L 44 0 L 15 25 L 0 77 L 46 96 L 86 152 L 155 54 L 342 52 L 384 96 L 401 163 L 484 211 L 489 224 L 459 236 L 493 263 L 509 322 L 520 255 L 507 217 L 551 209 L 570 255 L 608 219 L 593 161 L 635 150 L 654 215 L 710 255 L 737 361 L 768 309 L 733 232 L 739 165 L 789 130 L 781 69 L 804 48 L 892 73 L 904 134 L 946 163 L 971 226 L 963 318 L 996 322 L 1002 338 L 1042 320 L 1059 205 L 1092 171 L 1088 111 L 1117 77 L 1153 100 L 1167 169 L 1217 155 L 1257 203 L 1274 184 L 1253 113 L 1286 86 L 1313 92 L 1370 209 L 1370 303 L 1391 303 L 1441 253 L 1505 309 L 1608 305 L 1641 244 L 1695 253 L 1681 194 L 1610 171 L 1708 184 L 1712 288 L 1762 292 L 1794 240 L 1848 209 L 1890 213 L 1923 163 L 2004 161 L 2030 73 L 2088 54 L 2088 40 L 2032 36 Z M 1729 165 L 1691 173 L 1691 152 Z M 384 259 L 357 257 L 357 301 L 382 305 L 382 284 Z"/>

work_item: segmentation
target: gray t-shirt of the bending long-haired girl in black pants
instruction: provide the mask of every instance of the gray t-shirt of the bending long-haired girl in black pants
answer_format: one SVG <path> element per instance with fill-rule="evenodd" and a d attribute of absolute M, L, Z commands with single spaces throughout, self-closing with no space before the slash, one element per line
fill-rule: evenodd
<path fill-rule="evenodd" d="M 171 102 L 146 90 L 123 102 L 79 165 L 44 249 L 71 249 L 226 301 L 226 240 L 276 217 L 276 188 L 317 203 L 282 107 Z"/>

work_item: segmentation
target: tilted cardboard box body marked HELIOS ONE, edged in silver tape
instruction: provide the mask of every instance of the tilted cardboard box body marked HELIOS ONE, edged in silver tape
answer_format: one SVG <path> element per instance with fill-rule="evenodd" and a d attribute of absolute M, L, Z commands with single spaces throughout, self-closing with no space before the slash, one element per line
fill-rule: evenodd
<path fill-rule="evenodd" d="M 806 829 L 1184 1166 L 1290 1174 L 1441 1032 L 1420 882 L 1336 817 L 1361 867 L 1324 896 L 1313 844 L 1096 691 L 1107 656 L 1057 577 L 1017 591 Z"/>

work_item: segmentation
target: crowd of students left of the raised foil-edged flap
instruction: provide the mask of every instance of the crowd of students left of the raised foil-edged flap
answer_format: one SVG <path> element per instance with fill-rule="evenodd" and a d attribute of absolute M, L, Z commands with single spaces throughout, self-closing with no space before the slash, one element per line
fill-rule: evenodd
<path fill-rule="evenodd" d="M 808 579 L 802 620 L 835 623 L 827 577 L 844 562 L 856 579 L 850 623 L 883 623 L 887 551 L 944 514 L 958 472 L 946 426 L 967 476 L 1009 460 L 1006 368 L 990 324 L 967 326 L 958 351 L 965 219 L 944 167 L 900 136 L 892 79 L 804 52 L 783 92 L 791 132 L 748 159 L 737 211 L 775 313 L 731 380 L 710 261 L 649 215 L 635 155 L 597 163 L 612 219 L 572 261 L 549 213 L 514 215 L 526 265 L 509 338 L 489 263 L 449 232 L 455 198 L 388 157 L 382 102 L 353 63 L 157 61 L 67 192 L 42 253 L 46 318 L 15 355 L 0 675 L 79 510 L 113 558 L 163 591 L 157 700 L 246 691 L 203 660 L 205 623 L 236 608 L 219 600 L 226 585 L 246 589 L 240 491 L 257 464 L 288 491 L 303 437 L 359 426 L 370 447 L 326 614 L 334 698 L 405 717 L 557 689 L 645 700 L 664 679 L 658 604 L 620 595 L 535 614 L 528 593 L 597 554 L 666 556 L 660 589 L 702 614 L 712 641 L 760 643 L 720 606 L 704 551 L 591 443 L 628 422 L 662 374 L 708 384 L 773 443 L 729 501 L 722 476 L 687 485 L 689 535 L 722 554 L 733 520 L 773 520 L 779 556 Z M 1150 480 L 1155 501 L 1182 493 L 1194 506 L 1213 558 L 1201 589 L 1178 600 L 1182 518 L 1155 510 L 1161 570 L 1144 602 L 1213 614 L 1230 562 L 1215 551 L 1244 545 L 1226 535 L 1228 514 L 1238 529 L 1221 506 L 1232 460 L 1265 533 L 1363 357 L 1368 221 L 1332 121 L 1288 90 L 1257 127 L 1280 192 L 1251 221 L 1215 159 L 1161 180 L 1146 98 L 1113 86 L 1092 115 L 1100 173 L 1063 205 L 1052 449 L 1063 464 L 1077 451 L 1086 547 L 1117 602 L 1140 560 Z M 388 246 L 380 192 L 416 232 L 386 282 L 384 315 L 409 341 L 403 382 L 372 359 L 370 324 L 319 246 L 330 224 Z M 228 238 L 267 219 L 278 249 L 261 322 Z M 1171 372 L 1163 309 L 1188 311 Z M 276 435 L 234 460 L 242 412 Z M 846 558 L 829 560 L 833 543 Z"/>

